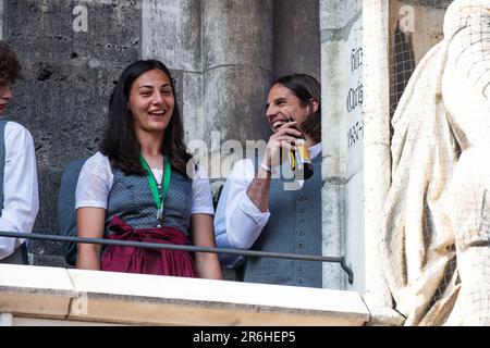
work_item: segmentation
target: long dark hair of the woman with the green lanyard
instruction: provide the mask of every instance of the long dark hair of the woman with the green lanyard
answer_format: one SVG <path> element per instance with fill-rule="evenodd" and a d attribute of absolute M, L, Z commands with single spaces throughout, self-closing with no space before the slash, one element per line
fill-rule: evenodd
<path fill-rule="evenodd" d="M 145 171 L 139 162 L 140 145 L 134 132 L 133 115 L 127 110 L 127 102 L 134 80 L 144 73 L 155 69 L 162 71 L 169 76 L 175 104 L 172 117 L 164 130 L 161 151 L 168 157 L 175 171 L 187 175 L 186 165 L 192 156 L 187 153 L 184 144 L 184 127 L 175 99 L 175 87 L 167 66 L 157 60 L 136 61 L 122 72 L 110 98 L 109 116 L 100 151 L 109 158 L 113 167 L 121 170 L 124 174 L 145 175 Z"/>

